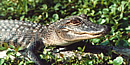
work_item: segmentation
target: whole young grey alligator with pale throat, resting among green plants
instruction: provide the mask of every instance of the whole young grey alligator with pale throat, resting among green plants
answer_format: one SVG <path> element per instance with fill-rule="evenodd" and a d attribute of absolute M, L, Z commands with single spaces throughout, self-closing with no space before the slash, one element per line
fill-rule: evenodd
<path fill-rule="evenodd" d="M 67 46 L 84 39 L 91 39 L 109 32 L 106 25 L 90 22 L 87 16 L 71 16 L 49 26 L 18 20 L 0 20 L 0 43 L 23 47 L 27 57 L 38 65 L 43 62 L 37 51 L 44 46 Z"/>

